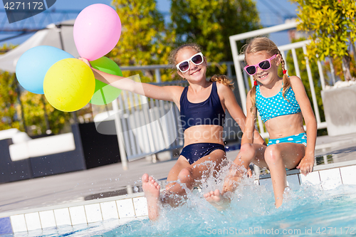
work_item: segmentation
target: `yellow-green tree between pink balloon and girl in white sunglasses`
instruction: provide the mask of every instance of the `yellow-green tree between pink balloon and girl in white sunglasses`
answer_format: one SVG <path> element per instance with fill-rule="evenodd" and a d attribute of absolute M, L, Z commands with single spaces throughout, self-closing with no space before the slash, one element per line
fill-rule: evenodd
<path fill-rule="evenodd" d="M 113 0 L 122 23 L 117 46 L 108 54 L 118 65 L 167 64 L 172 50 L 174 31 L 167 31 L 155 0 Z M 139 72 L 130 72 L 130 75 Z M 124 72 L 125 76 L 126 73 Z M 153 80 L 153 72 L 145 71 L 142 78 Z M 162 75 L 167 79 L 168 75 Z"/>

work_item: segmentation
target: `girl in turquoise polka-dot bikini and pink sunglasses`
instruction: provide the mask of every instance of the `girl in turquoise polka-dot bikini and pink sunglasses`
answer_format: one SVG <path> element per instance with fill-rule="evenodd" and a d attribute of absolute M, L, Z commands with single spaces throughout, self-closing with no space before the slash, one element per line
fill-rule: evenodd
<path fill-rule="evenodd" d="M 297 168 L 304 175 L 313 171 L 317 123 L 302 81 L 294 75 L 288 77 L 281 52 L 273 41 L 254 38 L 244 48 L 244 54 L 244 70 L 253 76 L 254 84 L 247 95 L 241 150 L 222 192 L 215 190 L 204 196 L 211 204 L 224 207 L 230 201 L 228 193 L 236 189 L 253 162 L 270 170 L 278 208 L 287 187 L 286 170 Z M 278 65 L 282 66 L 283 78 L 278 75 Z M 257 110 L 269 133 L 267 145 L 253 143 Z"/>

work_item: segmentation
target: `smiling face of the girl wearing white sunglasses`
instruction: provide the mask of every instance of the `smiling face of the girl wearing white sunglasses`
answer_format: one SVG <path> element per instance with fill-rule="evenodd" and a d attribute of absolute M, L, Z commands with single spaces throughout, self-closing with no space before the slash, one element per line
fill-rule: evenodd
<path fill-rule="evenodd" d="M 194 48 L 182 48 L 177 53 L 176 64 L 189 58 L 192 58 L 192 56 L 197 53 L 199 52 L 197 52 Z M 187 70 L 187 72 L 185 73 L 182 73 L 178 70 L 178 74 L 182 78 L 185 78 L 190 82 L 199 82 L 201 80 L 206 80 L 206 58 L 204 58 L 204 62 L 200 65 L 195 65 L 194 63 L 192 63 L 191 60 L 189 60 L 189 70 Z"/>

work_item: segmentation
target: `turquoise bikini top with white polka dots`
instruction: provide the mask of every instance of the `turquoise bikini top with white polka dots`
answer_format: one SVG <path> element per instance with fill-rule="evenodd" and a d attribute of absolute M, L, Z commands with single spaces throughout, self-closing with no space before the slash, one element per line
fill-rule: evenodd
<path fill-rule="evenodd" d="M 256 107 L 263 122 L 271 120 L 273 117 L 293 115 L 301 111 L 292 88 L 288 88 L 284 94 L 289 101 L 283 98 L 282 90 L 283 88 L 277 95 L 266 98 L 261 95 L 260 85 L 256 85 Z"/>

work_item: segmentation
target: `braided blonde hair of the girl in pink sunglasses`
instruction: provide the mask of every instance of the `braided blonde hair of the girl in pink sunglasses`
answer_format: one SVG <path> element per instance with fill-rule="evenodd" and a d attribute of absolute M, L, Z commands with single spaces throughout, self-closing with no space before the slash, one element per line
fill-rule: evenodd
<path fill-rule="evenodd" d="M 248 44 L 246 44 L 242 49 L 242 52 L 245 54 L 245 63 L 246 62 L 246 54 L 250 53 L 258 53 L 258 52 L 266 52 L 269 56 L 273 56 L 275 54 L 281 56 L 281 65 L 282 65 L 282 70 L 286 70 L 285 68 L 285 61 L 283 60 L 281 51 L 279 51 L 278 47 L 276 46 L 273 41 L 271 41 L 269 38 L 266 37 L 257 37 L 253 38 L 252 41 L 250 41 Z M 253 78 L 253 80 L 256 80 Z M 290 80 L 288 78 L 288 75 L 286 73 L 283 74 L 283 90 L 282 90 L 282 95 L 283 98 L 286 99 L 285 93 L 286 91 L 290 88 Z M 253 85 L 253 88 L 251 89 L 250 92 L 250 100 L 251 100 L 251 109 L 252 107 L 256 106 L 256 85 Z M 286 99 L 288 100 L 288 99 Z M 250 109 L 250 110 L 251 110 Z"/>

